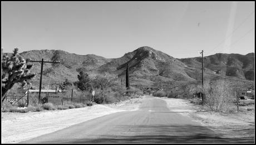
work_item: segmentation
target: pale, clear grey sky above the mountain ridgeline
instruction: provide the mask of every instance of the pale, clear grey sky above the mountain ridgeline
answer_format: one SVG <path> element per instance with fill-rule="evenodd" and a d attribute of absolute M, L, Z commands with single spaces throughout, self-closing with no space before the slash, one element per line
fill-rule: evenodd
<path fill-rule="evenodd" d="M 3 52 L 118 58 L 149 46 L 187 58 L 247 54 L 254 39 L 255 2 L 1 2 Z"/>

